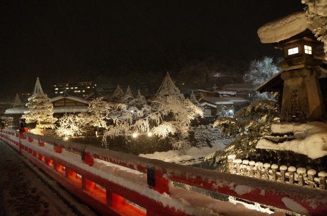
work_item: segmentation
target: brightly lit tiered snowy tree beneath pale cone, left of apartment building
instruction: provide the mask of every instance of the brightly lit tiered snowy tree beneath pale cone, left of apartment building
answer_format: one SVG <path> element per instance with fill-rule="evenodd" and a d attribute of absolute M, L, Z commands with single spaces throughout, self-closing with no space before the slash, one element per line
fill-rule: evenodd
<path fill-rule="evenodd" d="M 53 117 L 53 105 L 46 94 L 33 95 L 26 106 L 28 111 L 22 116 L 26 123 L 37 122 L 37 128 L 54 128 L 57 119 Z"/>

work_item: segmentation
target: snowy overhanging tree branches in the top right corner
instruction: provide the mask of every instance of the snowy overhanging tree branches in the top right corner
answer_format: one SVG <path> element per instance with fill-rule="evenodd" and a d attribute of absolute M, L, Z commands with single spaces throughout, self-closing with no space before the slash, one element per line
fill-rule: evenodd
<path fill-rule="evenodd" d="M 325 60 L 327 60 L 327 1 L 326 0 L 302 0 L 306 4 L 305 12 L 309 22 L 318 24 L 313 33 L 318 41 L 324 43 Z"/>

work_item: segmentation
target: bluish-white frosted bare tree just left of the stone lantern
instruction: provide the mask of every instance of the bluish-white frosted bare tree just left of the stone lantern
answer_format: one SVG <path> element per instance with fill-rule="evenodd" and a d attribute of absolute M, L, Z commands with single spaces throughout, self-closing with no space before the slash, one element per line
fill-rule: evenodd
<path fill-rule="evenodd" d="M 261 60 L 253 60 L 249 70 L 244 74 L 243 81 L 260 85 L 279 72 L 273 58 L 264 57 Z"/>

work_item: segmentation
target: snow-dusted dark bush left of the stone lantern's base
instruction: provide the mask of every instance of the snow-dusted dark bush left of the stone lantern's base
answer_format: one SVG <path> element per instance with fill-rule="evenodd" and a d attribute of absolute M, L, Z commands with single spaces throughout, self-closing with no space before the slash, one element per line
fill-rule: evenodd
<path fill-rule="evenodd" d="M 222 127 L 225 136 L 235 136 L 234 141 L 225 149 L 216 153 L 215 164 L 220 170 L 226 170 L 227 155 L 238 158 L 256 154 L 257 142 L 271 133 L 271 125 L 279 122 L 279 107 L 275 101 L 256 101 L 235 113 L 233 118 L 218 118 L 214 127 Z"/>

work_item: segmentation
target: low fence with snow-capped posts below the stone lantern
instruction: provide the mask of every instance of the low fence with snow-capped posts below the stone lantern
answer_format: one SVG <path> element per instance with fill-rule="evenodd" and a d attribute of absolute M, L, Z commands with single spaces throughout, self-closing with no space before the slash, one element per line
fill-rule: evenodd
<path fill-rule="evenodd" d="M 256 177 L 261 179 L 287 182 L 301 186 L 326 189 L 327 173 L 314 169 L 306 170 L 303 167 L 278 166 L 277 164 L 262 163 L 260 161 L 249 161 L 236 158 L 235 155 L 228 155 L 228 172 L 237 175 Z"/>

